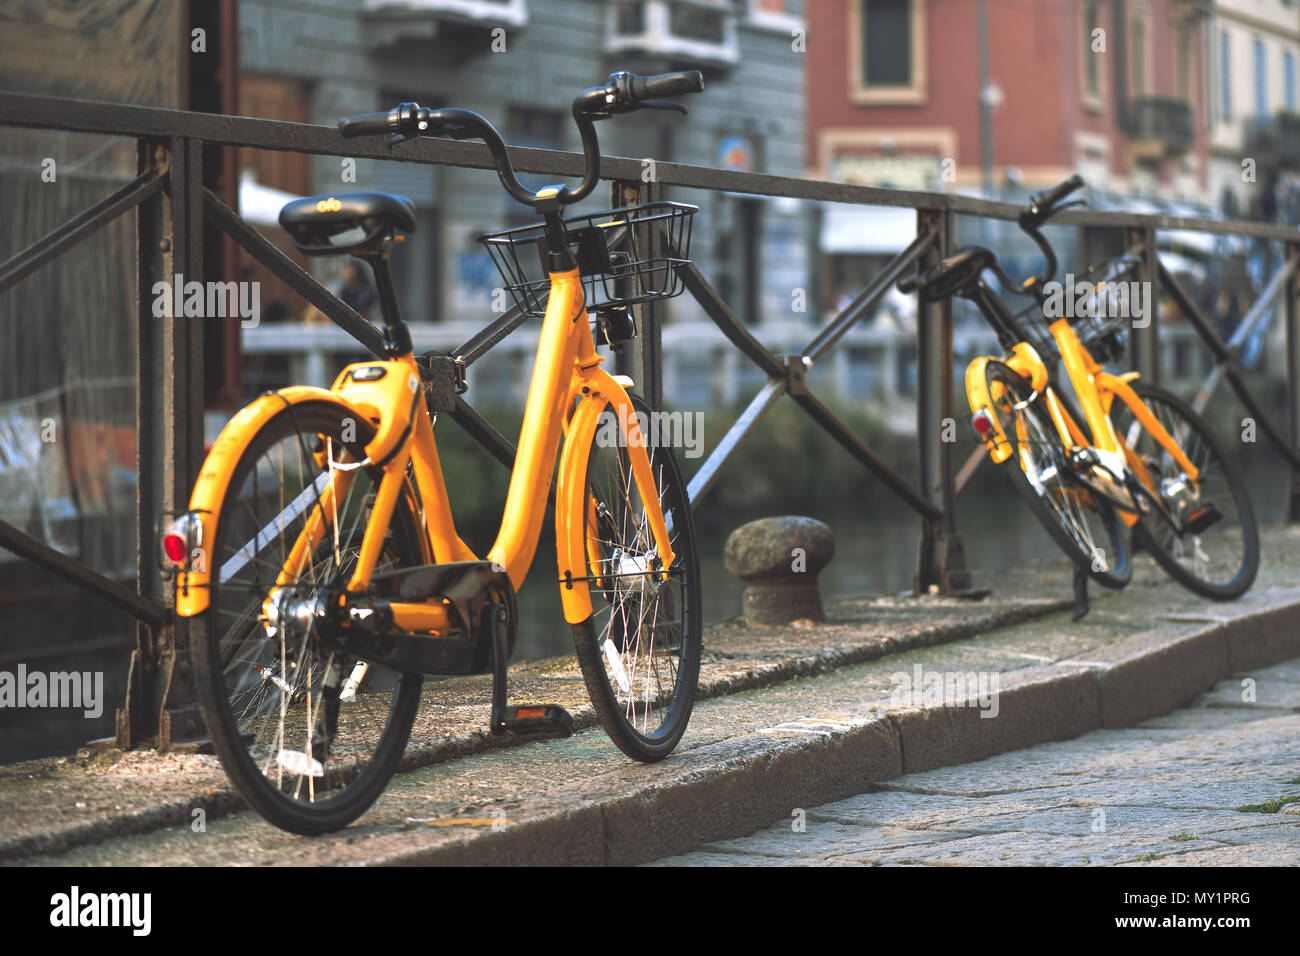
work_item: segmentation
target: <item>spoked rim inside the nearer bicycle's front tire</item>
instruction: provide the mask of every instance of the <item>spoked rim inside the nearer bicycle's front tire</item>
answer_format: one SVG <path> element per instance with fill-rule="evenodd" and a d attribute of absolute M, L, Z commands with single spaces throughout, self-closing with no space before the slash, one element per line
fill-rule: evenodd
<path fill-rule="evenodd" d="M 597 436 L 618 434 L 614 412 L 602 414 Z M 668 736 L 684 700 L 690 670 L 690 568 L 681 528 L 688 520 L 680 488 L 664 486 L 663 455 L 647 447 L 650 468 L 676 561 L 659 580 L 654 533 L 623 447 L 598 441 L 588 464 L 588 575 L 592 579 L 597 654 L 621 722 L 646 741 Z"/>

